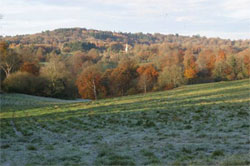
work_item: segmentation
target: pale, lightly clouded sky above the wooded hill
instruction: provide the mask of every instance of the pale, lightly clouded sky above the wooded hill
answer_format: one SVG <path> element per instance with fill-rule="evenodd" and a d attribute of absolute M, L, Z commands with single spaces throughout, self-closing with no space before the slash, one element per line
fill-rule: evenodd
<path fill-rule="evenodd" d="M 0 0 L 0 35 L 81 27 L 250 39 L 250 0 Z"/>

